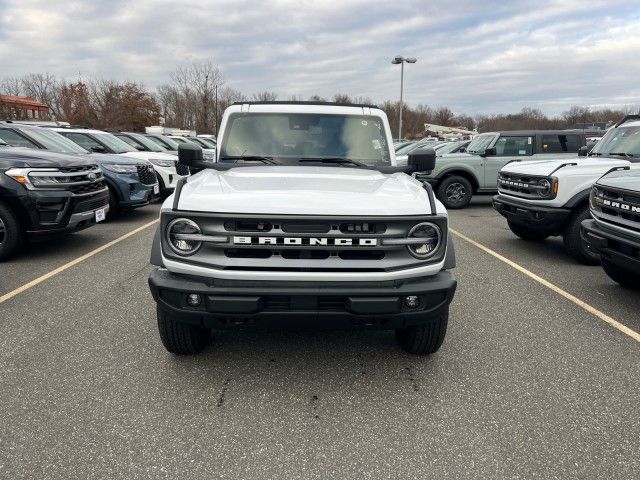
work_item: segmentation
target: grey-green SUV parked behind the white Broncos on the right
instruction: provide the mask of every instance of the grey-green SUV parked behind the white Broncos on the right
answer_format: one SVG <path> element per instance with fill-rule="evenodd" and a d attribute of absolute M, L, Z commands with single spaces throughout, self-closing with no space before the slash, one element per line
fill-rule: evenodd
<path fill-rule="evenodd" d="M 447 208 L 464 208 L 475 193 L 498 191 L 498 172 L 507 163 L 577 157 L 586 144 L 581 130 L 514 130 L 483 133 L 465 153 L 438 157 L 429 182 Z"/>

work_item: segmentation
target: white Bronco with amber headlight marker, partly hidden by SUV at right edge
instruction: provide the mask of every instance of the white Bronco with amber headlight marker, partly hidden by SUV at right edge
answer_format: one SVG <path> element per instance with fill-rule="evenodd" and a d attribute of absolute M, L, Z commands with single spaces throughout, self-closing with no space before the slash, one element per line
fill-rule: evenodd
<path fill-rule="evenodd" d="M 597 265 L 600 255 L 580 234 L 590 218 L 589 195 L 595 181 L 615 167 L 640 161 L 637 115 L 618 122 L 585 156 L 540 162 L 511 162 L 498 175 L 493 207 L 509 229 L 524 240 L 562 235 L 567 252 L 581 263 Z"/>

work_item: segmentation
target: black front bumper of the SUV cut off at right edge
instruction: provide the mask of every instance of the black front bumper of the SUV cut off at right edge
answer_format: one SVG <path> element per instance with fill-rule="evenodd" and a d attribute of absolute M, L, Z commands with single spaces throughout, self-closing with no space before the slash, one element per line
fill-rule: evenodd
<path fill-rule="evenodd" d="M 580 233 L 591 248 L 603 258 L 624 270 L 640 275 L 640 234 L 634 239 L 604 229 L 593 219 L 582 222 Z"/>

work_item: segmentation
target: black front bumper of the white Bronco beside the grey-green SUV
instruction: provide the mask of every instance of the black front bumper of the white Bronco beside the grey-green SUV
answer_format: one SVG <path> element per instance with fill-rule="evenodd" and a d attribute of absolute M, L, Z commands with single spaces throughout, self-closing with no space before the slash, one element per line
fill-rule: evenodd
<path fill-rule="evenodd" d="M 504 195 L 493 197 L 493 208 L 510 222 L 550 234 L 562 231 L 571 215 L 569 208 L 544 207 L 513 200 Z"/>

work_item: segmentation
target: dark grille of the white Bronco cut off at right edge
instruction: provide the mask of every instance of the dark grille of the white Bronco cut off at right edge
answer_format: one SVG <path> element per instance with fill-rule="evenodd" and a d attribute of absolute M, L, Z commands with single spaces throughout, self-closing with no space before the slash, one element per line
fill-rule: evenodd
<path fill-rule="evenodd" d="M 596 185 L 591 206 L 596 216 L 640 231 L 640 195 L 637 193 Z"/>

